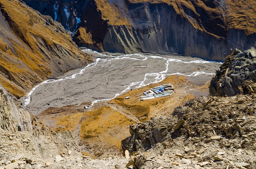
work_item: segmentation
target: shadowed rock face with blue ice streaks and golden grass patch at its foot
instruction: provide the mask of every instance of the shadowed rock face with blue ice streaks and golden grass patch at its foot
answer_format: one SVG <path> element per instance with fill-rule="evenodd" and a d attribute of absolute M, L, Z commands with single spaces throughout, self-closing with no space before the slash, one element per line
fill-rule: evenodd
<path fill-rule="evenodd" d="M 108 20 L 101 17 L 94 0 L 25 0 L 26 4 L 49 15 L 74 34 L 79 47 L 104 51 L 102 43 L 108 31 Z M 106 50 L 106 49 L 105 49 Z"/>

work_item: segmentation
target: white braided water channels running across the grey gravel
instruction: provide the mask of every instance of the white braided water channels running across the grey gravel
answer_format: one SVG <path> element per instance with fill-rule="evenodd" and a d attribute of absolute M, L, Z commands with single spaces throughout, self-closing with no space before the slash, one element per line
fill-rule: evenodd
<path fill-rule="evenodd" d="M 112 60 L 118 60 L 118 59 L 132 59 L 132 60 L 138 60 L 138 61 L 145 61 L 147 60 L 148 58 L 156 58 L 156 59 L 162 59 L 162 60 L 165 60 L 165 65 L 166 65 L 166 69 L 164 71 L 161 71 L 161 72 L 157 72 L 157 73 L 146 73 L 145 76 L 144 76 L 144 79 L 142 81 L 138 81 L 138 82 L 132 82 L 130 83 L 129 85 L 126 85 L 124 87 L 126 87 L 123 91 L 121 91 L 120 93 L 116 93 L 115 96 L 113 98 L 109 98 L 109 99 L 96 99 L 94 101 L 92 101 L 92 104 L 91 104 L 91 107 L 93 106 L 93 104 L 99 102 L 99 101 L 108 101 L 108 100 L 111 100 L 111 99 L 114 99 L 116 98 L 117 96 L 121 95 L 122 93 L 128 91 L 131 89 L 132 86 L 135 86 L 135 88 L 139 88 L 139 87 L 142 87 L 142 86 L 146 86 L 146 85 L 149 85 L 149 84 L 154 84 L 154 83 L 158 83 L 162 80 L 165 79 L 166 76 L 171 76 L 171 75 L 182 75 L 182 76 L 198 76 L 198 75 L 202 75 L 202 74 L 205 74 L 205 75 L 215 75 L 215 73 L 207 73 L 207 72 L 204 72 L 204 71 L 195 71 L 189 75 L 185 75 L 185 74 L 182 74 L 182 73 L 172 73 L 172 74 L 166 74 L 168 72 L 168 66 L 169 66 L 169 62 L 183 62 L 183 63 L 209 63 L 210 61 L 203 61 L 203 60 L 194 60 L 194 61 L 189 61 L 189 62 L 185 62 L 185 61 L 182 61 L 182 60 L 179 60 L 179 59 L 172 59 L 172 58 L 164 58 L 162 56 L 157 56 L 157 55 L 142 55 L 142 54 L 127 54 L 127 55 L 118 55 L 118 56 L 113 56 L 113 55 L 105 55 L 105 54 L 102 54 L 102 53 L 99 53 L 99 52 L 96 52 L 96 51 L 93 51 L 91 49 L 85 49 L 83 50 L 84 52 L 87 52 L 87 53 L 92 53 L 92 54 L 97 54 L 97 55 L 100 55 L 100 56 L 104 56 L 104 57 L 108 57 L 110 59 L 104 59 L 104 58 L 97 58 L 96 59 L 96 62 L 93 62 L 89 65 L 87 65 L 86 67 L 82 68 L 80 71 L 78 71 L 77 73 L 74 73 L 73 75 L 71 76 L 68 76 L 68 77 L 64 77 L 64 78 L 60 78 L 60 79 L 49 79 L 49 80 L 46 80 L 44 82 L 42 82 L 41 84 L 35 86 L 29 93 L 28 93 L 28 96 L 25 98 L 25 103 L 24 105 L 27 106 L 30 101 L 31 101 L 31 95 L 32 93 L 36 90 L 37 87 L 39 87 L 40 85 L 43 85 L 43 84 L 47 84 L 47 83 L 55 83 L 55 82 L 60 82 L 60 81 L 63 81 L 63 80 L 67 80 L 67 79 L 73 79 L 79 75 L 82 75 L 84 73 L 84 71 L 88 68 L 91 68 L 91 67 L 94 67 L 98 64 L 99 61 L 103 61 L 103 62 L 106 62 L 106 61 L 112 61 Z M 131 57 L 131 56 L 137 56 L 139 58 L 134 58 L 134 57 Z M 148 80 L 147 77 L 154 77 L 155 81 L 154 82 L 150 82 L 150 83 L 147 83 L 146 84 L 146 80 Z"/>

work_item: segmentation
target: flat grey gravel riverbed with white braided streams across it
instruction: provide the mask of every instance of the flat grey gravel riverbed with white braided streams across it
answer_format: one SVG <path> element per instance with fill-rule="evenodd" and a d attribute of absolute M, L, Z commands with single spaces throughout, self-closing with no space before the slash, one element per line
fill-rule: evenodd
<path fill-rule="evenodd" d="M 177 55 L 107 54 L 83 50 L 94 56 L 84 68 L 70 70 L 57 79 L 34 87 L 25 99 L 33 114 L 48 107 L 63 107 L 113 99 L 131 89 L 157 83 L 170 75 L 187 76 L 193 83 L 211 80 L 218 62 Z"/>

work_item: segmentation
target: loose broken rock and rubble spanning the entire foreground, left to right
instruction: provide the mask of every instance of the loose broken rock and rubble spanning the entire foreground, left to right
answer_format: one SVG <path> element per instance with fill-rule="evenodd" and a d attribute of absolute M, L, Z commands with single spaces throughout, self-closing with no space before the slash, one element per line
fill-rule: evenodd
<path fill-rule="evenodd" d="M 242 85 L 229 83 L 239 92 L 227 97 L 220 94 L 228 91 L 227 85 L 218 80 L 219 75 L 236 72 L 232 70 L 237 65 L 230 60 L 254 60 L 253 50 L 235 50 L 227 58 L 223 65 L 228 69 L 217 72 L 211 82 L 210 90 L 215 91 L 211 96 L 189 100 L 172 115 L 131 125 L 131 136 L 122 141 L 126 158 L 82 155 L 70 131 L 51 132 L 1 89 L 0 106 L 5 114 L 0 116 L 0 168 L 256 168 L 255 81 L 242 78 Z M 246 64 L 239 67 L 241 74 L 251 63 Z M 213 86 L 216 79 L 219 85 Z"/>

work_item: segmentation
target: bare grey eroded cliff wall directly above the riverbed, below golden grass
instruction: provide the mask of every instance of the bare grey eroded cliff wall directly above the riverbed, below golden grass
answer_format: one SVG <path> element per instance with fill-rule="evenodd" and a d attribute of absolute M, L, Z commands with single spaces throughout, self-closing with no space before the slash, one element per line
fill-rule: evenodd
<path fill-rule="evenodd" d="M 212 34 L 197 30 L 187 18 L 177 15 L 174 8 L 167 4 L 127 6 L 132 28 L 110 27 L 103 41 L 106 51 L 176 53 L 224 61 L 230 54 L 230 48 L 246 50 L 256 44 L 256 34 L 247 36 L 242 30 L 228 30 L 221 20 L 202 23 L 204 27 L 209 27 L 207 30 Z M 224 28 L 218 27 L 220 25 Z M 213 36 L 213 32 L 219 37 Z"/>

